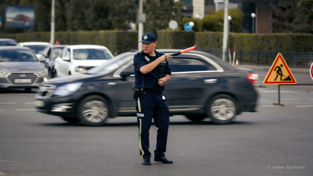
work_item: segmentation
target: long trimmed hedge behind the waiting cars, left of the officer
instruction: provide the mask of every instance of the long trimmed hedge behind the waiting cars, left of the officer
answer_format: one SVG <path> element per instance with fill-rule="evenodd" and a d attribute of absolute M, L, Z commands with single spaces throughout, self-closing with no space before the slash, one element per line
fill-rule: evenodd
<path fill-rule="evenodd" d="M 17 42 L 49 42 L 50 32 L 0 34 L 0 38 L 11 38 Z M 107 47 L 112 54 L 119 54 L 137 49 L 138 33 L 136 31 L 69 31 L 56 32 L 55 41 L 60 44 L 96 44 Z"/>

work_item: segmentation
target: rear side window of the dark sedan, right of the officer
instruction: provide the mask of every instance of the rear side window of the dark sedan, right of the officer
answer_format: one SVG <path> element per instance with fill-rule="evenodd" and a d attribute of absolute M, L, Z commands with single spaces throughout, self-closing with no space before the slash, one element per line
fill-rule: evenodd
<path fill-rule="evenodd" d="M 175 58 L 168 61 L 172 72 L 217 70 L 212 64 L 200 59 Z"/>

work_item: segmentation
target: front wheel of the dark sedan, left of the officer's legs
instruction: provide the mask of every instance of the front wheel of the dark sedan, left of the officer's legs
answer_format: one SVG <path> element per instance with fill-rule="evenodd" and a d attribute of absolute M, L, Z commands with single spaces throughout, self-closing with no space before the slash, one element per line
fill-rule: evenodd
<path fill-rule="evenodd" d="M 109 103 L 101 96 L 87 96 L 80 101 L 77 116 L 87 126 L 102 126 L 109 116 Z"/>

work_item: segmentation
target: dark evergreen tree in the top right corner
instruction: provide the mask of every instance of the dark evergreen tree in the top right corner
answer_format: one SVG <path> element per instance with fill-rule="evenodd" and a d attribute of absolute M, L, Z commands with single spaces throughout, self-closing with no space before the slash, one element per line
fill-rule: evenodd
<path fill-rule="evenodd" d="M 273 10 L 273 32 L 313 33 L 313 0 L 280 0 Z"/>

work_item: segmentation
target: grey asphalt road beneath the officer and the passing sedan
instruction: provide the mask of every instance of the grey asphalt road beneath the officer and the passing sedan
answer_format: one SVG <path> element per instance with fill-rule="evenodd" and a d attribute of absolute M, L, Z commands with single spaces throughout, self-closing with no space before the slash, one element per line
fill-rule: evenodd
<path fill-rule="evenodd" d="M 312 175 L 313 91 L 282 88 L 281 107 L 273 106 L 275 87 L 257 88 L 258 112 L 229 125 L 172 116 L 166 156 L 174 163 L 151 166 L 141 164 L 136 117 L 109 119 L 104 127 L 73 125 L 37 112 L 35 92 L 2 91 L 0 176 Z M 152 153 L 156 130 L 151 126 Z"/>

